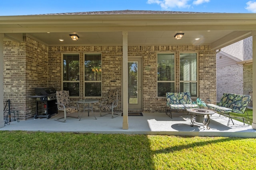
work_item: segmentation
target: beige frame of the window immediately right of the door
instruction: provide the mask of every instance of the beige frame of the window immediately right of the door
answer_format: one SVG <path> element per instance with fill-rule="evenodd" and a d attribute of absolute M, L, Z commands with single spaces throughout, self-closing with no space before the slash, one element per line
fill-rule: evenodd
<path fill-rule="evenodd" d="M 158 54 L 170 54 L 174 55 L 174 80 L 158 81 Z M 176 92 L 176 53 L 172 51 L 156 53 L 156 97 L 166 98 L 166 96 L 158 96 L 158 82 L 170 82 L 174 83 L 174 92 Z"/>

